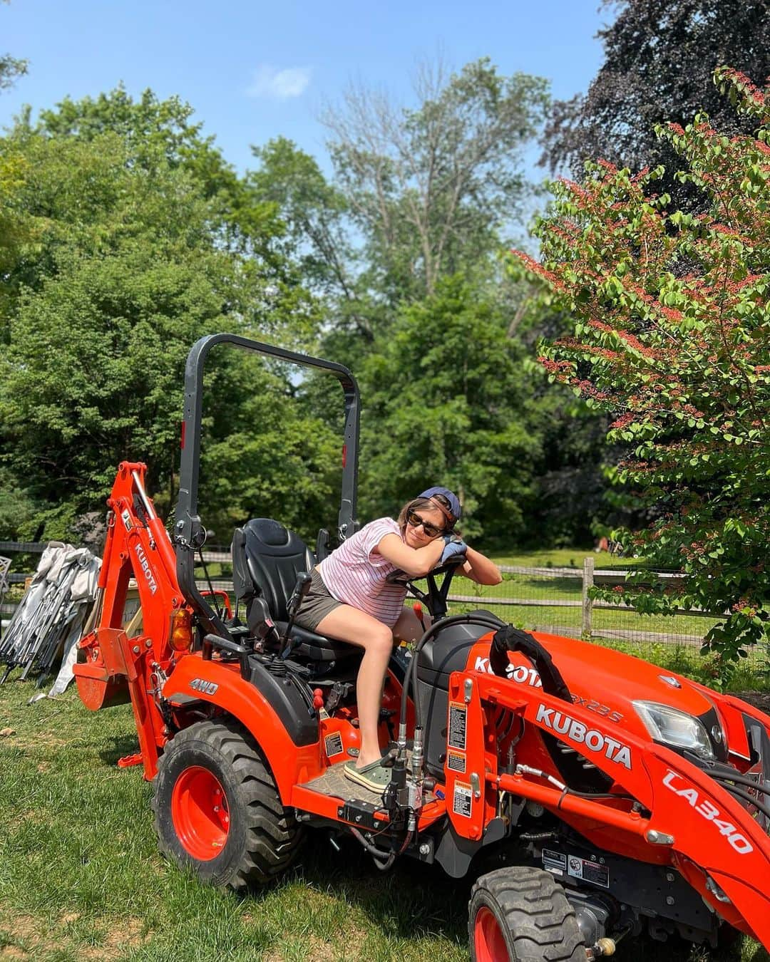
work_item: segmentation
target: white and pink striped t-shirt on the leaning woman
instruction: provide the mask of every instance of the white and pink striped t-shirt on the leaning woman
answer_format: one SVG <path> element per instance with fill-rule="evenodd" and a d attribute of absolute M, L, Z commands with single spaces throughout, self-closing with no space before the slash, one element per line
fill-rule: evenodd
<path fill-rule="evenodd" d="M 324 558 L 318 569 L 332 597 L 392 628 L 403 609 L 406 589 L 385 580 L 397 567 L 382 557 L 377 544 L 390 534 L 401 537 L 394 519 L 370 521 Z"/>

